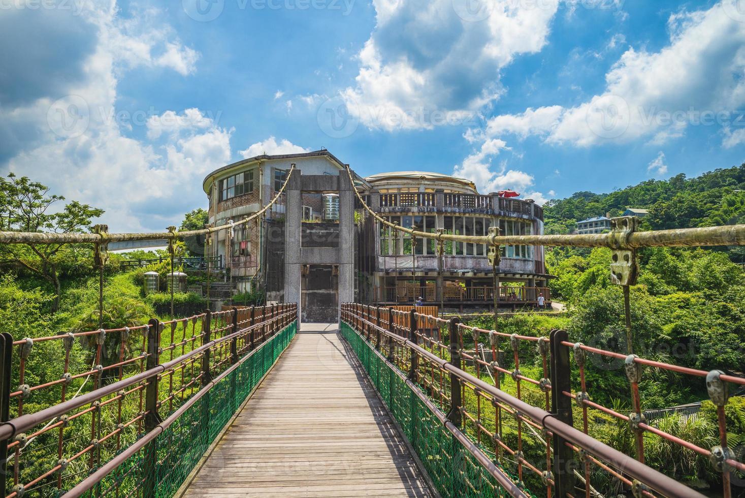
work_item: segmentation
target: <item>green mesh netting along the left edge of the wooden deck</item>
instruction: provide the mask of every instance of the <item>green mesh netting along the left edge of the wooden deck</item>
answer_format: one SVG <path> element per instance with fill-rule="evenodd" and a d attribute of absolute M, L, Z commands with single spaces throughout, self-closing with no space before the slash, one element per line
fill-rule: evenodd
<path fill-rule="evenodd" d="M 85 497 L 172 497 L 297 332 L 285 327 Z M 94 469 L 95 470 L 95 469 Z"/>

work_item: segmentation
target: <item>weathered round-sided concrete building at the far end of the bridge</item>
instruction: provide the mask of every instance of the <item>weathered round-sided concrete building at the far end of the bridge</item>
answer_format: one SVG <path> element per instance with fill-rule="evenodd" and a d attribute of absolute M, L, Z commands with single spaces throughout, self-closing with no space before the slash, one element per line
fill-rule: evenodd
<path fill-rule="evenodd" d="M 426 304 L 445 309 L 491 308 L 494 271 L 486 245 L 432 240 L 385 227 L 362 209 L 344 163 L 325 149 L 261 155 L 212 171 L 203 182 L 209 222 L 229 224 L 285 192 L 261 221 L 221 231 L 207 248 L 222 256 L 238 291 L 259 290 L 267 300 L 299 302 L 304 321 L 336 321 L 340 303 Z M 363 178 L 355 186 L 374 212 L 402 227 L 465 235 L 543 233 L 542 208 L 498 193 L 481 195 L 474 183 L 446 174 L 402 171 Z M 508 245 L 497 267 L 501 306 L 550 301 L 543 248 Z"/>

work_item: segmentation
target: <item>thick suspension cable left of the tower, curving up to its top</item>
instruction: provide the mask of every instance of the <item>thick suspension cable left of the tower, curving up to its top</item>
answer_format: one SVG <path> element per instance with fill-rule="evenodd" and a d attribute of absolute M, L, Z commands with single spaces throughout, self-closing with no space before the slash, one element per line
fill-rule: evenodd
<path fill-rule="evenodd" d="M 269 203 L 259 209 L 259 211 L 253 212 L 250 215 L 244 217 L 240 221 L 233 223 L 220 225 L 219 227 L 208 227 L 200 230 L 184 230 L 183 232 L 174 230 L 162 233 L 49 233 L 49 232 L 0 232 L 0 244 L 80 244 L 80 243 L 92 243 L 92 244 L 107 244 L 108 242 L 124 242 L 124 241 L 139 241 L 139 240 L 161 240 L 166 239 L 168 241 L 181 239 L 183 237 L 194 237 L 200 235 L 209 235 L 210 233 L 219 232 L 221 230 L 229 230 L 234 227 L 239 227 L 242 224 L 247 224 L 253 219 L 259 218 L 267 211 L 273 204 L 279 199 L 279 196 L 285 192 L 285 187 L 288 185 L 288 181 L 295 171 L 295 163 L 292 163 L 291 168 L 287 172 L 285 177 L 285 183 L 282 183 L 282 188 L 276 193 Z"/>

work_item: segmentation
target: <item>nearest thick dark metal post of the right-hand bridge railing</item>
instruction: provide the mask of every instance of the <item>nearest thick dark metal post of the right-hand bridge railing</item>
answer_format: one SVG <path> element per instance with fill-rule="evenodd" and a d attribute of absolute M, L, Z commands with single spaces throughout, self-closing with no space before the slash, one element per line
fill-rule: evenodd
<path fill-rule="evenodd" d="M 571 392 L 571 365 L 569 348 L 562 346 L 568 341 L 566 330 L 551 330 L 551 414 L 563 423 L 573 426 L 571 416 L 571 398 L 562 394 Z M 565 497 L 574 493 L 574 450 L 568 447 L 567 441 L 554 434 L 554 485 L 555 496 Z"/>

